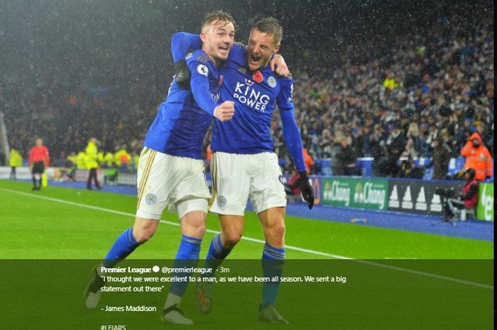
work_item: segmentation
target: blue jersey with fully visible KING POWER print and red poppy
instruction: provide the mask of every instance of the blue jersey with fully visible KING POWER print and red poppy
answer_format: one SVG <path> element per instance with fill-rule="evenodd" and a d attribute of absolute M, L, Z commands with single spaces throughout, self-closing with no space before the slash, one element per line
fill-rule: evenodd
<path fill-rule="evenodd" d="M 222 101 L 234 101 L 230 121 L 214 121 L 211 148 L 225 153 L 253 154 L 273 152 L 271 116 L 293 110 L 293 80 L 277 77 L 269 65 L 256 72 L 249 70 L 243 45 L 235 44 L 222 68 Z M 299 136 L 300 138 L 300 136 Z"/>

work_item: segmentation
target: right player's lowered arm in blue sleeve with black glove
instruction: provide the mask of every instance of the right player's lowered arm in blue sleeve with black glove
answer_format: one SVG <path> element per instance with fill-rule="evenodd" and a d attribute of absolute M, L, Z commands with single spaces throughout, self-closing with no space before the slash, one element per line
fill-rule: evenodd
<path fill-rule="evenodd" d="M 302 139 L 300 130 L 295 122 L 295 106 L 293 105 L 293 80 L 280 79 L 281 91 L 278 95 L 278 108 L 280 109 L 281 123 L 283 125 L 283 138 L 290 151 L 290 156 L 299 172 L 299 179 L 295 186 L 300 188 L 302 197 L 307 202 L 309 209 L 314 205 L 314 190 L 309 183 L 307 167 L 305 167 L 304 154 L 302 153 Z"/>

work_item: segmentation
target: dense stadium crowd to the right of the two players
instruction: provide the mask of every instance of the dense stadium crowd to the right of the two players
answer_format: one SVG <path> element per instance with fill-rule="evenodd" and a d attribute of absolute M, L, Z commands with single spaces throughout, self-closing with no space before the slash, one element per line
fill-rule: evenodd
<path fill-rule="evenodd" d="M 376 175 L 395 176 L 400 156 L 437 159 L 447 150 L 448 163 L 474 132 L 493 154 L 492 16 L 440 16 L 388 46 L 359 65 L 295 70 L 297 123 L 312 157 L 332 158 L 333 172 L 344 175 L 352 150 L 354 158 L 374 158 Z M 276 150 L 288 158 L 278 123 Z"/>

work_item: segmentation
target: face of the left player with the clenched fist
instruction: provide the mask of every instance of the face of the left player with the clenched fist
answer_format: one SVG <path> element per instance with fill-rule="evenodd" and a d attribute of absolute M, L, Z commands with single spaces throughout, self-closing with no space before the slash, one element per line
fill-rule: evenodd
<path fill-rule="evenodd" d="M 228 58 L 229 51 L 233 46 L 235 38 L 235 28 L 233 23 L 213 21 L 208 26 L 204 26 L 200 38 L 204 43 L 202 50 L 216 64 Z"/>

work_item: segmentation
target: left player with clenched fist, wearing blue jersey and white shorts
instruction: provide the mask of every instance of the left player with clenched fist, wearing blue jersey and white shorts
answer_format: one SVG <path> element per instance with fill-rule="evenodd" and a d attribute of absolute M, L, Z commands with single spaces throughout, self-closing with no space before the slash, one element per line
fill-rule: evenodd
<path fill-rule="evenodd" d="M 178 58 L 177 74 L 168 97 L 148 129 L 138 165 L 138 203 L 133 226 L 116 239 L 106 257 L 93 271 L 84 297 L 88 308 L 99 302 L 102 268 L 112 268 L 153 236 L 165 207 L 178 212 L 181 241 L 174 268 L 196 265 L 205 233 L 211 198 L 204 178 L 202 141 L 212 118 L 229 121 L 233 101 L 219 101 L 222 75 L 234 40 L 234 19 L 229 13 L 207 13 L 202 23 L 202 48 Z M 182 84 L 181 69 L 188 68 L 189 83 Z M 178 274 L 175 274 L 178 275 Z M 187 275 L 187 274 L 182 274 Z M 192 324 L 180 310 L 187 282 L 173 282 L 165 302 L 163 319 L 173 324 Z"/>

